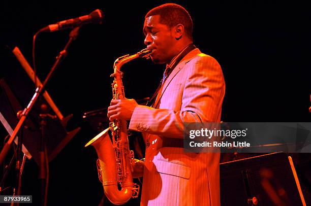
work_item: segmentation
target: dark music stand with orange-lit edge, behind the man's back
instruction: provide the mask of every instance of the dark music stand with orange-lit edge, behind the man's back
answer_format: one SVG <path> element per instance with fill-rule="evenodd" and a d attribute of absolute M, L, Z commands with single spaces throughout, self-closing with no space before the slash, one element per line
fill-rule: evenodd
<path fill-rule="evenodd" d="M 292 158 L 271 153 L 220 164 L 222 205 L 306 205 Z"/>

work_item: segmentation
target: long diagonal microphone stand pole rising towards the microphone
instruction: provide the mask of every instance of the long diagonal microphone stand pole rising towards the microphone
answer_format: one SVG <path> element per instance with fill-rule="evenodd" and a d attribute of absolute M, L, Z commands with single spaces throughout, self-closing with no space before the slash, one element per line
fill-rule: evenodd
<path fill-rule="evenodd" d="M 9 150 L 12 147 L 12 142 L 14 141 L 14 139 L 16 138 L 16 135 L 18 133 L 18 131 L 20 130 L 20 128 L 22 127 L 23 123 L 25 122 L 29 112 L 32 110 L 33 106 L 35 105 L 36 101 L 38 100 L 38 98 L 41 96 L 41 94 L 45 91 L 45 87 L 48 84 L 49 80 L 51 79 L 51 77 L 53 76 L 53 74 L 56 71 L 56 68 L 58 67 L 58 65 L 60 64 L 60 62 L 67 56 L 67 50 L 70 47 L 70 45 L 73 43 L 74 40 L 77 39 L 78 35 L 79 35 L 79 29 L 80 26 L 75 27 L 72 29 L 72 31 L 70 32 L 70 39 L 67 42 L 65 48 L 59 52 L 59 54 L 56 56 L 56 61 L 54 62 L 49 74 L 47 75 L 46 79 L 44 80 L 42 85 L 39 85 L 36 88 L 36 92 L 34 94 L 34 96 L 32 97 L 32 99 L 29 101 L 28 106 L 23 110 L 22 114 L 21 114 L 21 118 L 19 120 L 19 122 L 17 123 L 10 139 L 8 140 L 8 142 L 4 145 L 3 149 L 0 152 L 0 166 L 4 163 L 4 160 L 9 152 Z"/>

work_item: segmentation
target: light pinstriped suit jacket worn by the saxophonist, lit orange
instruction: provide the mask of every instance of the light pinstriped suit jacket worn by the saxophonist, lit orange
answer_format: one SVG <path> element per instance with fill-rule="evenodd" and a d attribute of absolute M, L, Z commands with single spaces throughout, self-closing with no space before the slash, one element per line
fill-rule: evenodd
<path fill-rule="evenodd" d="M 225 81 L 219 63 L 199 49 L 174 68 L 155 100 L 137 106 L 130 129 L 145 132 L 141 205 L 220 205 L 220 153 L 163 147 L 183 138 L 183 122 L 220 122 Z"/>

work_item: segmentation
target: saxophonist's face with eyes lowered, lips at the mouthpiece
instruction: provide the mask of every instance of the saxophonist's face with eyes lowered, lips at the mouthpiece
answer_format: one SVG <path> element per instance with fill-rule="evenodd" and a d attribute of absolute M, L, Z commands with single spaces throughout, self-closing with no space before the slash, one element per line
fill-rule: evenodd
<path fill-rule="evenodd" d="M 145 18 L 144 35 L 147 49 L 152 49 L 151 59 L 154 63 L 169 63 L 175 56 L 174 33 L 167 25 L 160 23 L 160 15 Z"/>

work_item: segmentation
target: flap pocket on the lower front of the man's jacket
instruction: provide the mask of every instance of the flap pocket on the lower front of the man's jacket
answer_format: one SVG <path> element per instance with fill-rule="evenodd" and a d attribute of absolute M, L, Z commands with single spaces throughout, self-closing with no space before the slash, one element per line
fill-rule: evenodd
<path fill-rule="evenodd" d="M 178 162 L 170 162 L 163 159 L 158 159 L 157 164 L 158 173 L 177 176 L 184 179 L 189 179 L 191 174 L 191 167 L 180 164 Z"/>

